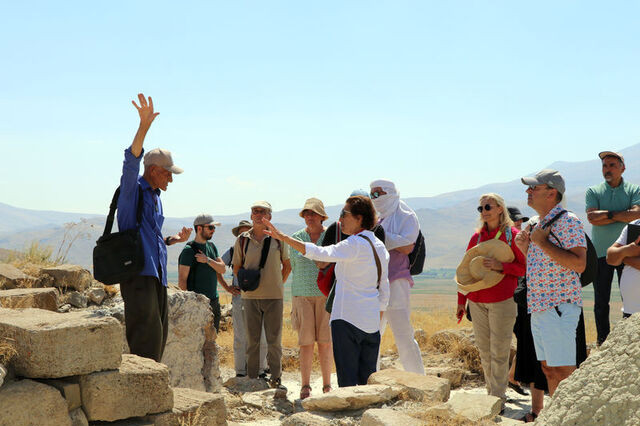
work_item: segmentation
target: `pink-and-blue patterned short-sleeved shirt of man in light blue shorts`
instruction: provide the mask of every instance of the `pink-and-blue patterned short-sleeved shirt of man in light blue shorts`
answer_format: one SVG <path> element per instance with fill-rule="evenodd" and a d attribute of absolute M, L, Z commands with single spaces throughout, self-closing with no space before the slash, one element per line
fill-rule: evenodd
<path fill-rule="evenodd" d="M 549 222 L 563 210 L 556 205 L 536 227 Z M 551 225 L 551 232 L 560 243 L 549 235 L 552 244 L 565 250 L 587 247 L 582 222 L 576 215 L 566 212 Z M 527 252 L 527 306 L 529 313 L 542 312 L 561 303 L 582 306 L 582 284 L 577 272 L 553 261 L 542 249 L 531 242 Z"/>

